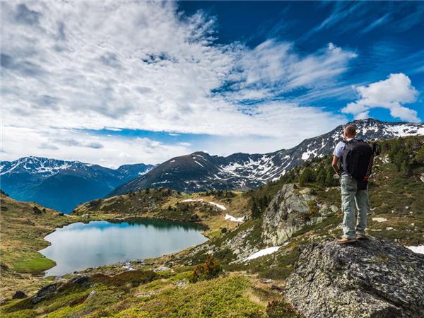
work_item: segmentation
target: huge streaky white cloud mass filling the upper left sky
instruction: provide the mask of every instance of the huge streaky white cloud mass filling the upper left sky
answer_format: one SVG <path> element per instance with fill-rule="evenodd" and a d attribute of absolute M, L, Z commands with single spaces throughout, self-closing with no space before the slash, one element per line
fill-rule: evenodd
<path fill-rule="evenodd" d="M 64 151 L 78 147 L 81 160 L 95 163 L 112 160 L 112 153 L 118 153 L 115 163 L 122 163 L 120 158 L 160 162 L 191 149 L 143 139 L 133 144 L 141 148 L 126 156 L 134 139 L 81 139 L 75 131 L 142 129 L 281 141 L 290 134 L 299 142 L 344 120 L 288 102 L 240 103 L 333 83 L 356 54 L 331 43 L 306 56 L 276 40 L 254 49 L 218 45 L 213 17 L 185 16 L 172 1 L 4 1 L 0 18 L 0 102 L 11 156 L 49 151 L 70 158 L 73 154 Z M 314 114 L 320 120 L 311 129 L 293 132 Z M 34 146 L 28 145 L 28 131 Z M 25 147 L 13 147 L 6 138 Z M 293 144 L 278 144 L 283 146 Z"/>

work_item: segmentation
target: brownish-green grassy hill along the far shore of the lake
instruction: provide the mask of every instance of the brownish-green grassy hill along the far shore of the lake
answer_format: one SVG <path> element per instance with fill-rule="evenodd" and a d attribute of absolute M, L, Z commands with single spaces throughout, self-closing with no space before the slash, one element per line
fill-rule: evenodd
<path fill-rule="evenodd" d="M 202 199 L 204 202 L 222 204 L 226 211 L 204 202 L 182 202 L 185 199 Z M 241 192 L 201 192 L 180 194 L 165 188 L 141 190 L 98 199 L 81 204 L 73 215 L 89 215 L 92 219 L 107 218 L 164 218 L 167 220 L 191 221 L 206 225 L 204 234 L 214 237 L 222 228 L 232 229 L 237 223 L 225 220 L 225 214 L 247 216 L 249 206 Z"/>

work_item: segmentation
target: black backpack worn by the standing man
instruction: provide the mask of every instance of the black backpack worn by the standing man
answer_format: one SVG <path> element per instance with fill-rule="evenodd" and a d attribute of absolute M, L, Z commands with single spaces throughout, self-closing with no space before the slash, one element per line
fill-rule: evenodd
<path fill-rule="evenodd" d="M 379 145 L 377 143 L 370 145 L 362 139 L 343 142 L 346 144 L 341 156 L 343 172 L 356 179 L 359 190 L 365 190 L 371 175 L 374 155 L 379 155 Z"/>

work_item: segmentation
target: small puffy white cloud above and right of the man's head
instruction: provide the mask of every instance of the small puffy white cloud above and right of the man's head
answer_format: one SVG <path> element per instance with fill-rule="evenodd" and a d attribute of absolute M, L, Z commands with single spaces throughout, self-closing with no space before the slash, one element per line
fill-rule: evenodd
<path fill-rule="evenodd" d="M 392 117 L 408 122 L 420 122 L 416 110 L 403 104 L 415 102 L 418 91 L 413 88 L 411 79 L 404 73 L 390 74 L 384 81 L 356 88 L 360 99 L 350 102 L 342 109 L 346 114 L 354 114 L 356 119 L 369 117 L 371 108 L 382 107 L 390 110 Z"/>

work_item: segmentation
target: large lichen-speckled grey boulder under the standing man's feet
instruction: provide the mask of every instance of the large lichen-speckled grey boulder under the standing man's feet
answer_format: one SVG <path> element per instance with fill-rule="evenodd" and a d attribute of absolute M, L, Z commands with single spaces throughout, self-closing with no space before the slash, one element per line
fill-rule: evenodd
<path fill-rule="evenodd" d="M 306 317 L 424 317 L 424 255 L 374 238 L 302 247 L 285 297 Z"/>

